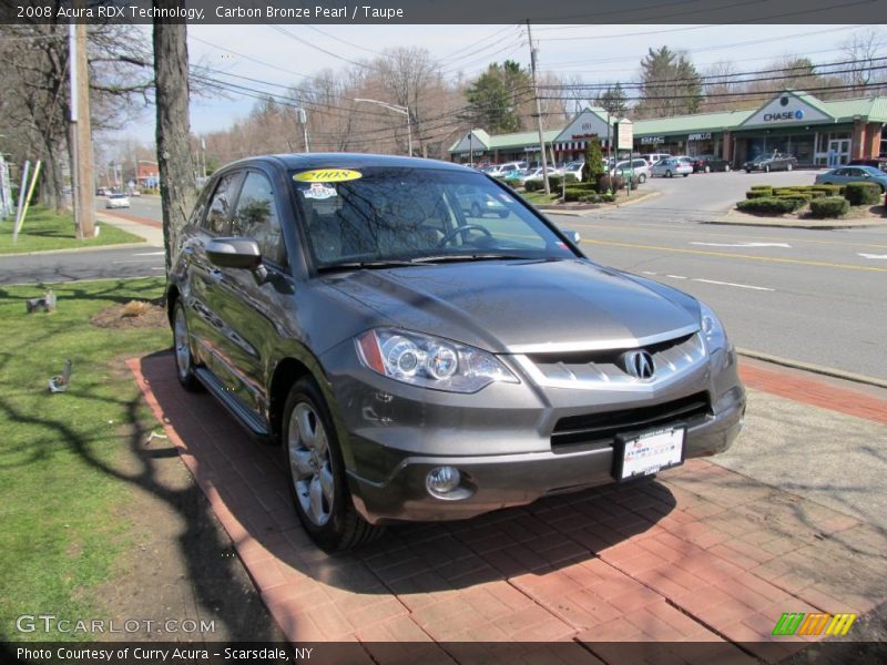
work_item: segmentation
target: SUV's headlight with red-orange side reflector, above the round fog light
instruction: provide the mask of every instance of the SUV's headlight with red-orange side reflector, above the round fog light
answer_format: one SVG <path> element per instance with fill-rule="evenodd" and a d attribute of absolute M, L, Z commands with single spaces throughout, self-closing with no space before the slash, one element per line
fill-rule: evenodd
<path fill-rule="evenodd" d="M 477 392 L 493 381 L 519 382 L 492 354 L 431 335 L 377 328 L 355 341 L 366 367 L 405 383 Z"/>

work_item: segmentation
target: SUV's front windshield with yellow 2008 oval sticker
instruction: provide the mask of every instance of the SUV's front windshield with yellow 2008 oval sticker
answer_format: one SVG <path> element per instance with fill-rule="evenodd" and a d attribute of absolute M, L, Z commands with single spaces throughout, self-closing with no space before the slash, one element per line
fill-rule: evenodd
<path fill-rule="evenodd" d="M 575 256 L 542 219 L 479 173 L 374 166 L 290 175 L 318 268 Z"/>

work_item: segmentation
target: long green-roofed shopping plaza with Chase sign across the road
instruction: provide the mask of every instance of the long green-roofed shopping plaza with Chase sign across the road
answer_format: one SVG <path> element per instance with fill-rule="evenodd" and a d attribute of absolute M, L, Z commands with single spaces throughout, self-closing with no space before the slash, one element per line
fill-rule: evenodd
<path fill-rule="evenodd" d="M 543 132 L 549 158 L 581 160 L 588 142 L 614 141 L 616 119 L 587 108 L 567 126 Z M 633 123 L 635 153 L 716 155 L 738 167 L 774 151 L 797 157 L 799 166 L 846 164 L 887 154 L 887 98 L 824 101 L 785 90 L 758 109 L 676 115 Z M 455 162 L 538 160 L 539 133 L 489 135 L 472 130 L 449 150 Z"/>

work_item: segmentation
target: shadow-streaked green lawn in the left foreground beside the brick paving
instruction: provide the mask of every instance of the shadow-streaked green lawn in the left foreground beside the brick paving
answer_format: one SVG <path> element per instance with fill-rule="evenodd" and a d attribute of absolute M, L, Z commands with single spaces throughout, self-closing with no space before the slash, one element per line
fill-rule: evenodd
<path fill-rule="evenodd" d="M 153 422 L 123 359 L 169 347 L 161 328 L 103 329 L 92 315 L 163 293 L 163 279 L 55 285 L 58 310 L 26 314 L 24 299 L 44 288 L 0 288 L 0 640 L 83 640 L 83 634 L 20 634 L 21 614 L 62 618 L 95 614 L 99 585 L 113 579 L 126 546 L 119 510 L 132 484 L 120 461 L 128 423 Z M 68 392 L 48 380 L 65 358 Z M 150 427 L 150 426 L 149 426 Z"/>

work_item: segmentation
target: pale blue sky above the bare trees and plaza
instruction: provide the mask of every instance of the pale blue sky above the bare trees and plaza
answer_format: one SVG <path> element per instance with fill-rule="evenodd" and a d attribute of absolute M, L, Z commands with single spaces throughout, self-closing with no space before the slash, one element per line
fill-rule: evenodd
<path fill-rule="evenodd" d="M 700 71 L 730 61 L 736 71 L 764 68 L 774 59 L 807 57 L 814 63 L 840 60 L 842 44 L 866 25 L 533 25 L 539 70 L 579 75 L 589 83 L 636 81 L 648 49 L 685 50 Z M 150 43 L 146 28 L 145 39 Z M 881 29 L 879 29 L 880 31 Z M 881 39 L 885 38 L 880 32 Z M 308 45 L 312 44 L 312 45 Z M 442 63 L 445 76 L 471 80 L 490 62 L 517 60 L 529 66 L 526 25 L 192 25 L 188 57 L 239 76 L 292 85 L 324 69 L 375 58 L 385 48 L 421 47 Z M 232 79 L 236 81 L 236 79 Z M 242 81 L 256 89 L 279 88 Z M 252 98 L 201 96 L 191 102 L 195 134 L 224 130 L 246 116 Z M 154 111 L 110 136 L 151 143 Z"/>

